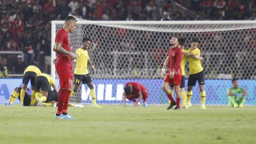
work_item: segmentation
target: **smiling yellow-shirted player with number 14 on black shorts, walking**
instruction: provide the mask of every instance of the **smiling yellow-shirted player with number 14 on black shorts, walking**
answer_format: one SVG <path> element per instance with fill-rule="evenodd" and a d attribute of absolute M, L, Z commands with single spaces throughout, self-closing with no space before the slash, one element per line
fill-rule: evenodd
<path fill-rule="evenodd" d="M 89 64 L 91 69 L 95 70 L 93 64 L 90 61 L 90 57 L 87 51 L 91 45 L 91 40 L 89 38 L 83 38 L 82 45 L 83 46 L 77 49 L 75 52 L 76 67 L 74 71 L 74 89 L 70 93 L 70 96 L 72 96 L 79 90 L 82 82 L 83 84 L 87 84 L 90 89 L 90 95 L 93 103 L 92 107 L 102 108 L 101 106 L 96 104 L 96 94 L 94 91 L 93 80 L 91 79 L 91 76 L 87 69 L 87 64 Z"/>

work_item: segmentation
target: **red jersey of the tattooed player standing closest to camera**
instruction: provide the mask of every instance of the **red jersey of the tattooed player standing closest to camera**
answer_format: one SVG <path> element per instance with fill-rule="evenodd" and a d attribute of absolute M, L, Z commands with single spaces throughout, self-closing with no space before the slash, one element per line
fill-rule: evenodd
<path fill-rule="evenodd" d="M 60 43 L 62 48 L 71 52 L 68 32 L 65 29 L 62 28 L 57 32 L 55 37 L 55 43 Z M 58 55 L 58 58 L 57 58 L 56 65 L 72 67 L 71 58 L 69 55 L 58 53 L 58 52 L 57 52 L 57 55 Z"/>

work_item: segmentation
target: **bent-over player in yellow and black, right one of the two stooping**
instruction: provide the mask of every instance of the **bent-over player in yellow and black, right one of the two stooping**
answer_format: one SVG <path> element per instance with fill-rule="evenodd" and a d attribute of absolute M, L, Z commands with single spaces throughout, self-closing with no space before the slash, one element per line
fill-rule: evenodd
<path fill-rule="evenodd" d="M 47 99 L 50 85 L 52 85 L 53 89 L 57 91 L 55 82 L 49 75 L 41 73 L 35 77 L 35 98 L 40 106 L 43 106 L 42 102 Z M 42 90 L 42 97 L 40 96 L 40 90 Z"/>

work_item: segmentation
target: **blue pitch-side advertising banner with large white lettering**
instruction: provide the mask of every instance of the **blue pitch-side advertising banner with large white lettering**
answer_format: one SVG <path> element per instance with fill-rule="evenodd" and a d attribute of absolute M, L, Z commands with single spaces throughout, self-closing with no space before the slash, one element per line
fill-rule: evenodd
<path fill-rule="evenodd" d="M 121 104 L 125 83 L 129 81 L 140 82 L 148 89 L 148 104 L 168 103 L 168 98 L 162 90 L 163 80 L 161 79 L 94 79 L 97 103 Z M 17 86 L 22 86 L 22 79 L 0 79 L 0 103 L 8 102 L 13 89 Z M 56 80 L 56 86 L 59 87 L 58 80 Z M 239 80 L 239 86 L 248 91 L 245 104 L 256 105 L 256 80 Z M 28 87 L 31 90 L 30 84 Z M 227 105 L 229 87 L 232 87 L 231 80 L 205 80 L 206 104 Z M 86 84 L 81 86 L 81 99 L 78 101 L 91 103 L 90 90 Z M 127 102 L 130 103 L 130 101 Z M 201 103 L 198 84 L 193 88 L 191 102 Z M 16 103 L 19 103 L 19 100 L 16 100 Z"/>

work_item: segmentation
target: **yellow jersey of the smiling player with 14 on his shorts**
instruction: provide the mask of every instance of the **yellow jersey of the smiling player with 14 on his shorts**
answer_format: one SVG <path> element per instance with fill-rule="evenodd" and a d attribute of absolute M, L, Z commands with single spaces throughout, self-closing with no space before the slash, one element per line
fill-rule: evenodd
<path fill-rule="evenodd" d="M 76 75 L 86 75 L 89 73 L 87 69 L 87 63 L 90 59 L 88 51 L 84 50 L 82 48 L 79 48 L 76 50 L 75 54 L 77 54 L 79 57 L 76 59 L 76 67 L 74 74 Z"/>

